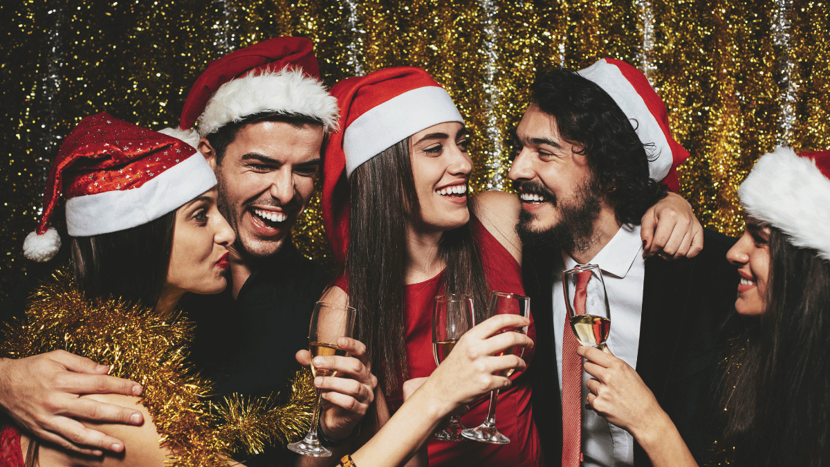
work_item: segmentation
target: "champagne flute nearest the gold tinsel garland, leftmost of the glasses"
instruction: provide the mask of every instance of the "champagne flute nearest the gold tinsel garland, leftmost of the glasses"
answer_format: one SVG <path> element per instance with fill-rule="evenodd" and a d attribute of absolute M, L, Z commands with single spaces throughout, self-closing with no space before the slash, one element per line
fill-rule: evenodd
<path fill-rule="evenodd" d="M 334 305 L 332 303 L 317 302 L 314 312 L 311 312 L 309 325 L 309 351 L 311 352 L 311 373 L 314 376 L 337 376 L 337 371 L 317 369 L 314 366 L 315 356 L 345 356 L 346 351 L 337 346 L 339 337 L 352 337 L 354 332 L 353 307 Z M 314 457 L 328 457 L 331 451 L 320 445 L 317 437 L 317 427 L 320 423 L 320 389 L 314 404 L 314 415 L 311 416 L 311 426 L 305 438 L 288 445 L 288 449 L 302 455 Z"/>

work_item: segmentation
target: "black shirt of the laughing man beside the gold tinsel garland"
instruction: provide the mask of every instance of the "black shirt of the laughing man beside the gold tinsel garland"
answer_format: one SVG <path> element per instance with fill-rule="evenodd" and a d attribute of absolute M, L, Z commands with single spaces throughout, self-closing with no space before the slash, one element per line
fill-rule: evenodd
<path fill-rule="evenodd" d="M 262 263 L 234 300 L 230 288 L 183 303 L 196 323 L 194 364 L 214 383 L 217 394 L 280 396 L 300 370 L 295 353 L 308 347 L 311 310 L 331 280 L 317 263 L 286 243 Z M 281 445 L 252 459 L 248 467 L 293 465 L 295 455 Z"/>

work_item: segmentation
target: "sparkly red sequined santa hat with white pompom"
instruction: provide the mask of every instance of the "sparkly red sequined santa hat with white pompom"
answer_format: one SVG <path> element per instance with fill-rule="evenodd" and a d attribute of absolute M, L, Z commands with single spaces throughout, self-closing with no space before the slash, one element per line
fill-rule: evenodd
<path fill-rule="evenodd" d="M 72 237 L 108 234 L 159 219 L 216 184 L 207 160 L 183 141 L 101 112 L 81 120 L 51 165 L 27 258 L 48 261 L 61 247 L 48 227 L 61 194 Z"/>

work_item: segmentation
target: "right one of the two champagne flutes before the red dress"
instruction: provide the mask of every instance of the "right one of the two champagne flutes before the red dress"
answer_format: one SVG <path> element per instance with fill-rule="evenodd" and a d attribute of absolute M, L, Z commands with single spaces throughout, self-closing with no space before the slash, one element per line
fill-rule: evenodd
<path fill-rule="evenodd" d="M 517 295 L 508 292 L 490 292 L 490 302 L 487 304 L 487 312 L 485 318 L 494 317 L 496 315 L 513 314 L 521 315 L 523 317 L 530 317 L 530 297 L 524 295 Z M 500 332 L 521 332 L 527 333 L 527 327 L 520 328 L 505 328 Z M 515 354 L 522 356 L 525 351 L 524 347 L 510 347 L 505 351 L 500 352 L 497 356 Z M 503 376 L 510 376 L 514 369 L 506 370 L 502 373 Z M 494 445 L 506 445 L 510 443 L 510 438 L 499 433 L 496 430 L 496 402 L 499 398 L 499 390 L 491 391 L 490 393 L 490 407 L 487 409 L 487 418 L 481 425 L 476 428 L 468 428 L 461 431 L 461 435 L 465 438 L 483 443 L 492 443 Z"/>

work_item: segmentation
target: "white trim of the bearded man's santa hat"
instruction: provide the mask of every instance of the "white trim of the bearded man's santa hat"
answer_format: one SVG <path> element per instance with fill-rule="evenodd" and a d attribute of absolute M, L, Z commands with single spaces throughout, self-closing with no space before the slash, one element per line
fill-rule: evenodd
<path fill-rule="evenodd" d="M 656 180 L 665 179 L 674 161 L 671 146 L 666 140 L 666 134 L 657 123 L 657 119 L 648 110 L 646 102 L 634 89 L 631 81 L 623 75 L 623 71 L 603 58 L 588 68 L 577 71 L 577 74 L 597 83 L 603 91 L 608 93 L 608 96 L 611 96 L 628 119 L 632 120 L 632 126 L 637 131 L 642 144 L 655 145 L 653 153 L 649 154 L 648 158 L 649 177 Z M 651 151 L 647 150 L 647 152 Z"/>

